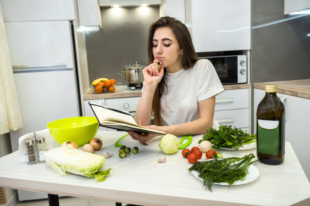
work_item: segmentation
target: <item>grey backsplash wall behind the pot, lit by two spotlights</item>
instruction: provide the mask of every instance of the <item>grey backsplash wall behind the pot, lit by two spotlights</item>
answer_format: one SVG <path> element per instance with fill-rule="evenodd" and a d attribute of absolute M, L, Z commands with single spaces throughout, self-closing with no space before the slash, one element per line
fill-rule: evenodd
<path fill-rule="evenodd" d="M 126 85 L 124 65 L 147 65 L 148 27 L 159 19 L 159 6 L 100 10 L 102 29 L 85 32 L 90 83 L 105 77 Z"/>

